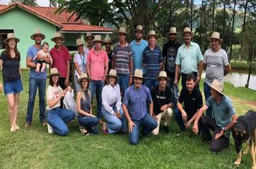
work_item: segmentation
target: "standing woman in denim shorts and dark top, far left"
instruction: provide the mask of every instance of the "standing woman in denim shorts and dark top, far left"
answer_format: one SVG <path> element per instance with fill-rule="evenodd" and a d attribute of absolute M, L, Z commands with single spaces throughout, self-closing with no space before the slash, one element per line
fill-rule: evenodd
<path fill-rule="evenodd" d="M 19 39 L 13 33 L 7 34 L 4 39 L 6 49 L 1 52 L 0 69 L 2 67 L 4 81 L 4 95 L 8 100 L 8 112 L 11 122 L 11 132 L 19 130 L 17 125 L 19 92 L 22 92 L 22 73 L 19 66 L 20 54 L 17 49 Z M 3 86 L 0 82 L 0 91 Z"/>

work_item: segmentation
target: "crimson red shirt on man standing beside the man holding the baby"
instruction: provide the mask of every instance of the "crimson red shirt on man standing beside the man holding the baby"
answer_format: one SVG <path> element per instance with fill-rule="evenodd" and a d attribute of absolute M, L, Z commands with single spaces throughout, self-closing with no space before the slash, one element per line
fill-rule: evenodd
<path fill-rule="evenodd" d="M 67 77 L 67 62 L 70 61 L 70 54 L 68 48 L 61 46 L 60 50 L 56 47 L 50 49 L 50 55 L 52 56 L 52 67 L 56 67 L 60 73 L 60 77 Z"/>

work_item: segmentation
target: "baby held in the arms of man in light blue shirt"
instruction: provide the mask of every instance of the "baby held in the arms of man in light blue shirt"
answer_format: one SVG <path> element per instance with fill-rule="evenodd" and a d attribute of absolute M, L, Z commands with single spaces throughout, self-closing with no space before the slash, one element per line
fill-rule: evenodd
<path fill-rule="evenodd" d="M 38 58 L 38 55 L 42 56 L 42 57 L 48 57 L 50 58 L 50 64 L 52 64 L 52 57 L 50 56 L 49 52 L 49 44 L 47 42 L 44 42 L 42 44 L 42 49 L 37 52 L 37 55 L 35 55 L 35 57 L 33 58 L 33 60 Z M 39 73 L 40 72 L 40 67 L 41 68 L 41 72 L 45 72 L 45 67 L 46 67 L 46 62 L 44 59 L 37 59 L 37 68 L 35 69 L 35 72 Z"/>

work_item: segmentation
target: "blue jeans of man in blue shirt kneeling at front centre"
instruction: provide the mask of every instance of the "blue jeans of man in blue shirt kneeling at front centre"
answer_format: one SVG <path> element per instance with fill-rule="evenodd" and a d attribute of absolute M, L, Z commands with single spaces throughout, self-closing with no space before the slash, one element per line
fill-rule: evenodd
<path fill-rule="evenodd" d="M 142 135 L 149 135 L 152 130 L 157 127 L 157 121 L 149 114 L 145 115 L 141 120 L 132 120 L 136 126 L 132 127 L 132 132 L 129 133 L 129 143 L 137 145 L 139 143 L 140 127 L 142 127 Z"/>

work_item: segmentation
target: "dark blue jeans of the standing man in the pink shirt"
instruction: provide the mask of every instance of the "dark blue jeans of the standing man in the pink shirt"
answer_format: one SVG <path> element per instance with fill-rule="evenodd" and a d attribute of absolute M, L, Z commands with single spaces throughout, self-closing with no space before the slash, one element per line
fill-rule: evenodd
<path fill-rule="evenodd" d="M 93 100 L 93 96 L 96 93 L 96 100 L 97 100 L 97 117 L 101 118 L 101 93 L 104 87 L 104 82 L 102 80 L 93 80 L 89 84 L 89 90 L 91 91 L 91 100 Z"/>

